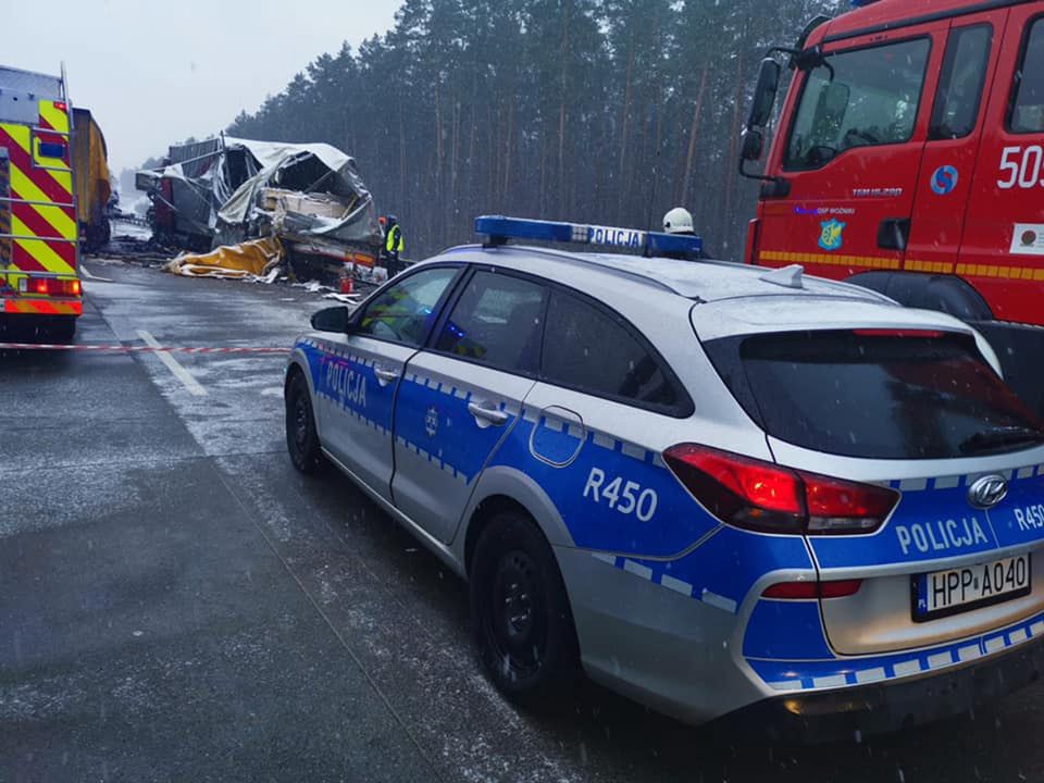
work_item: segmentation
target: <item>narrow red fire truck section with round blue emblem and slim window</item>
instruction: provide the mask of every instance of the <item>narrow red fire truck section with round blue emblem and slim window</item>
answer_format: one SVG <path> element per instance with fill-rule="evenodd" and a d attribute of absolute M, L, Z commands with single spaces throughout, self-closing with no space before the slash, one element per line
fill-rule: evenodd
<path fill-rule="evenodd" d="M 1008 12 L 960 16 L 946 38 L 903 268 L 952 274 Z"/>

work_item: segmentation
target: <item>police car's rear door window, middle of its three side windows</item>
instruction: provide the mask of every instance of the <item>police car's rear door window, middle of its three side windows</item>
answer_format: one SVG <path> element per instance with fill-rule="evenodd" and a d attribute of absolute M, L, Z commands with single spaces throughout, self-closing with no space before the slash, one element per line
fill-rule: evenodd
<path fill-rule="evenodd" d="M 532 281 L 478 271 L 460 295 L 435 350 L 499 370 L 536 373 L 547 295 Z"/>

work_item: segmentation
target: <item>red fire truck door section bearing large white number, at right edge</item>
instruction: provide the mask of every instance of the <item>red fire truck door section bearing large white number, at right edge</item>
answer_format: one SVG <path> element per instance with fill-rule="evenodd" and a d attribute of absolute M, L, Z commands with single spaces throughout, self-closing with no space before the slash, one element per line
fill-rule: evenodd
<path fill-rule="evenodd" d="M 1012 5 L 985 111 L 957 274 L 1006 321 L 1044 295 L 1044 2 Z"/>

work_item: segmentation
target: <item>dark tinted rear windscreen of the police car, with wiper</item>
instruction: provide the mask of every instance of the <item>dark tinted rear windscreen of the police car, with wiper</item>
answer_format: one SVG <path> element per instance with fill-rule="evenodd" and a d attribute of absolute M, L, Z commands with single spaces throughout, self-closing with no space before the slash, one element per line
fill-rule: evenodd
<path fill-rule="evenodd" d="M 960 335 L 815 332 L 707 352 L 772 437 L 869 459 L 946 459 L 1044 443 L 1042 424 Z"/>

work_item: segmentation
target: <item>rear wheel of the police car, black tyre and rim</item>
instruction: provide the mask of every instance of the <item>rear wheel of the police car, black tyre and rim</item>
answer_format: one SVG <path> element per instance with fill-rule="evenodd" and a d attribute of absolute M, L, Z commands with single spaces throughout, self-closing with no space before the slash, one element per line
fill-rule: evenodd
<path fill-rule="evenodd" d="M 555 555 L 522 513 L 498 514 L 478 538 L 471 617 L 483 667 L 515 700 L 554 695 L 576 668 L 572 613 Z"/>

